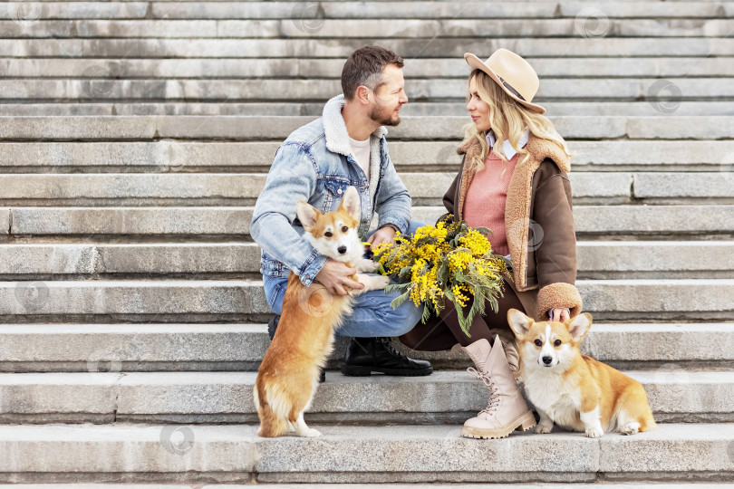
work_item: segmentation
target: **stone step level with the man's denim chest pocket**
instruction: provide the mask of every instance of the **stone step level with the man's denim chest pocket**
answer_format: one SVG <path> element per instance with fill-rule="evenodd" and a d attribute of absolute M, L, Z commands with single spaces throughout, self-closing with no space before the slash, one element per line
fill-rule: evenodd
<path fill-rule="evenodd" d="M 439 206 L 456 174 L 400 176 L 413 206 Z M 6 189 L 0 206 L 254 206 L 266 177 L 265 173 L 0 175 L 0 187 Z M 734 204 L 732 173 L 571 172 L 569 178 L 576 206 Z"/>

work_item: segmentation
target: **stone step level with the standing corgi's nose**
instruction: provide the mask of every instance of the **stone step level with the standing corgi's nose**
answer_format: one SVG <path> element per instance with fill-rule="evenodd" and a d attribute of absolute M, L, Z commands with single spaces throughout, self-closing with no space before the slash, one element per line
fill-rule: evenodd
<path fill-rule="evenodd" d="M 694 258 L 694 259 L 693 259 Z M 726 241 L 578 241 L 578 279 L 734 278 Z M 26 281 L 105 276 L 257 276 L 255 243 L 0 245 L 0 276 Z"/>

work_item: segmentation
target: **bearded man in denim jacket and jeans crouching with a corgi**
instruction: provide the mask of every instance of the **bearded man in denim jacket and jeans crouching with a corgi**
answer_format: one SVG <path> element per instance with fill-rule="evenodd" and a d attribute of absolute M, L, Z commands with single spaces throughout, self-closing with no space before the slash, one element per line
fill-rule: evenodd
<path fill-rule="evenodd" d="M 379 46 L 352 53 L 343 66 L 343 95 L 328 101 L 322 118 L 296 129 L 275 152 L 250 224 L 250 234 L 262 249 L 260 272 L 275 314 L 281 312 L 291 270 L 304 285 L 315 280 L 333 294 L 346 294 L 347 284 L 354 287 L 348 278 L 356 273 L 354 268 L 318 254 L 302 236 L 297 201 L 329 212 L 339 206 L 347 187 L 356 187 L 362 208 L 359 234 L 371 245 L 419 227 L 410 223 L 410 194 L 392 166 L 383 127 L 397 126 L 401 107 L 408 102 L 402 66 L 400 56 Z M 380 216 L 378 229 L 368 234 L 375 212 Z M 395 297 L 381 290 L 357 296 L 353 313 L 336 331 L 353 337 L 344 357 L 344 375 L 374 371 L 416 376 L 433 371 L 428 361 L 411 360 L 391 347 L 390 337 L 410 331 L 422 312 L 410 301 L 393 310 L 390 302 Z M 269 324 L 271 339 L 278 317 Z"/>

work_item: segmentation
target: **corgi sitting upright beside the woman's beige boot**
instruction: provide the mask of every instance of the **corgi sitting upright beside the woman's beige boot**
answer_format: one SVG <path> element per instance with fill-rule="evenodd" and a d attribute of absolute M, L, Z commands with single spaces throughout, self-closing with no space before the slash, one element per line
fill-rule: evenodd
<path fill-rule="evenodd" d="M 642 384 L 581 354 L 591 314 L 535 322 L 510 309 L 507 322 L 517 336 L 527 398 L 540 415 L 536 433 L 550 433 L 554 423 L 591 438 L 656 429 Z"/>

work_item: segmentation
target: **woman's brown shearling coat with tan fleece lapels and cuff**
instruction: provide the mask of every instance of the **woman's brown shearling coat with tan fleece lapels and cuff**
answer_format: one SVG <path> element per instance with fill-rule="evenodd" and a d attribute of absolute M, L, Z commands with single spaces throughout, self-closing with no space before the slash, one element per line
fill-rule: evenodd
<path fill-rule="evenodd" d="M 547 321 L 546 312 L 567 307 L 574 318 L 581 312 L 582 300 L 575 287 L 576 237 L 574 229 L 571 184 L 567 173 L 570 161 L 565 153 L 548 139 L 530 133 L 525 149 L 530 158 L 525 163 L 520 155 L 507 188 L 505 227 L 512 261 L 513 289 L 516 292 L 536 290 L 535 311 L 526 311 L 536 321 Z M 463 154 L 461 168 L 443 203 L 454 220 L 463 218 L 462 211 L 474 173 L 466 161 L 481 150 L 478 141 L 459 147 Z M 440 220 L 439 219 L 439 220 Z M 492 312 L 489 312 L 492 313 Z M 444 326 L 445 327 L 445 326 Z M 436 340 L 445 331 L 437 331 L 431 318 L 418 325 L 402 339 L 416 348 L 412 339 L 420 338 L 420 350 L 438 350 Z"/>

